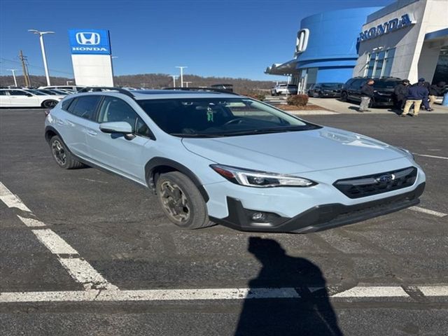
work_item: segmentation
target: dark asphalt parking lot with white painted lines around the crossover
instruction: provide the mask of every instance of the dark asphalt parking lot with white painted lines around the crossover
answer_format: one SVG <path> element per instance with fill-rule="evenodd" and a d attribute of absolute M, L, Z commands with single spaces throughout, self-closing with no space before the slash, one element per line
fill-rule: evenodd
<path fill-rule="evenodd" d="M 307 116 L 409 149 L 414 209 L 307 235 L 187 231 L 148 190 L 66 171 L 0 110 L 0 335 L 447 335 L 448 115 Z"/>

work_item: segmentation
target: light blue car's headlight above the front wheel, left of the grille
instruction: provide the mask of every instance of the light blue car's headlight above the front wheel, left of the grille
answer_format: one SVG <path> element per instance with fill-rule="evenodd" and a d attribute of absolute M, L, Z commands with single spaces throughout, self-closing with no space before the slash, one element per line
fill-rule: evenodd
<path fill-rule="evenodd" d="M 272 187 L 311 187 L 316 186 L 316 182 L 303 179 L 302 177 L 258 172 L 250 169 L 229 167 L 224 165 L 210 165 L 215 172 L 223 176 L 228 181 L 240 186 L 272 188 Z"/>

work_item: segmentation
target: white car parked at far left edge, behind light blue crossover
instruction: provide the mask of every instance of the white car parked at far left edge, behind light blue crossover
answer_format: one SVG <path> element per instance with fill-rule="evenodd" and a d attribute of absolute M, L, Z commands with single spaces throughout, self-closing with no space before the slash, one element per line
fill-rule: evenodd
<path fill-rule="evenodd" d="M 31 89 L 0 89 L 0 107 L 43 107 L 52 109 L 65 96 L 45 94 Z"/>

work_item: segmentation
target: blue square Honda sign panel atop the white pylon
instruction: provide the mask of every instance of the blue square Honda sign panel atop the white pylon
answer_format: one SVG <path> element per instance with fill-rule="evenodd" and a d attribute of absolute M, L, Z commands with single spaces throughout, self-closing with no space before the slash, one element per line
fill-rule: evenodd
<path fill-rule="evenodd" d="M 111 55 L 109 31 L 100 29 L 69 30 L 72 54 Z"/>

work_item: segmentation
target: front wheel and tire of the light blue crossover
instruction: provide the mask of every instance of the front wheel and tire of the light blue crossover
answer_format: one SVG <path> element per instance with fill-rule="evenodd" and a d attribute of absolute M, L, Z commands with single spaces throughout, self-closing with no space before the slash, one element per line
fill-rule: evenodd
<path fill-rule="evenodd" d="M 187 229 L 213 225 L 209 221 L 204 198 L 188 176 L 181 172 L 162 174 L 156 182 L 156 190 L 169 221 Z"/>

